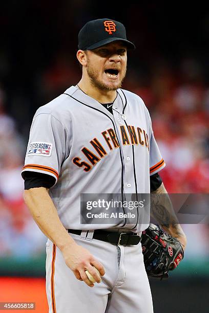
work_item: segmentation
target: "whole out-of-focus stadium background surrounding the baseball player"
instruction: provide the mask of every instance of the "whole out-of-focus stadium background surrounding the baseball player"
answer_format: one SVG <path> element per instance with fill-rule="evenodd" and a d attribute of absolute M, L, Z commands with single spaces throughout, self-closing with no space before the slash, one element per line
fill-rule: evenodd
<path fill-rule="evenodd" d="M 121 21 L 136 44 L 123 88 L 138 94 L 150 110 L 166 162 L 161 172 L 166 189 L 209 192 L 206 5 L 5 3 L 0 11 L 0 302 L 36 302 L 37 312 L 47 312 L 46 237 L 23 203 L 20 171 L 36 109 L 79 81 L 78 30 L 103 17 Z M 155 313 L 208 312 L 208 222 L 183 229 L 189 240 L 184 261 L 168 281 L 151 281 Z"/>

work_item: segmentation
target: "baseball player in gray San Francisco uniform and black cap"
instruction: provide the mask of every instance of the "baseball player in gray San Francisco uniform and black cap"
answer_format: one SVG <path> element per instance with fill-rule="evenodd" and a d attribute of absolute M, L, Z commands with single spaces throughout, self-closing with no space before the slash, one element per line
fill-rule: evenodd
<path fill-rule="evenodd" d="M 140 208 L 108 223 L 80 216 L 81 195 L 166 192 L 148 109 L 121 89 L 134 48 L 118 21 L 89 21 L 78 34 L 81 80 L 33 118 L 22 176 L 25 202 L 49 238 L 49 312 L 153 312 Z M 164 227 L 185 245 L 180 226 Z"/>

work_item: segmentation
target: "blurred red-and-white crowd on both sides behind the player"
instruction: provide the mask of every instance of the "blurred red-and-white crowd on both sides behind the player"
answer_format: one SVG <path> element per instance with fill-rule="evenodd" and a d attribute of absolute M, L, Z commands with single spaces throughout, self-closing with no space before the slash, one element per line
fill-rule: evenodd
<path fill-rule="evenodd" d="M 70 66 L 69 61 L 65 64 L 65 59 L 60 59 L 60 63 L 58 60 L 43 73 L 40 95 L 51 100 L 65 90 L 72 75 L 74 79 L 79 78 L 78 66 Z M 137 84 L 136 78 L 137 73 L 130 69 L 123 87 L 138 94 L 150 111 L 154 135 L 166 162 L 166 167 L 160 172 L 166 189 L 170 193 L 208 193 L 209 88 L 203 83 L 198 63 L 194 60 L 182 62 L 179 76 L 168 66 L 160 65 L 155 68 L 149 85 Z M 18 120 L 7 114 L 7 102 L 7 94 L 2 88 L 0 256 L 25 258 L 43 250 L 46 238 L 32 220 L 22 197 L 24 182 L 20 171 L 29 133 L 17 130 Z"/>

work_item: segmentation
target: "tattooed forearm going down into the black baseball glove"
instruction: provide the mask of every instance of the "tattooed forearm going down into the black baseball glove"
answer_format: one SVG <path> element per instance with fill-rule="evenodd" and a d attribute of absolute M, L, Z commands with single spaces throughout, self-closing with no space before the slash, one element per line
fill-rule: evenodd
<path fill-rule="evenodd" d="M 163 183 L 156 191 L 151 193 L 151 216 L 159 222 L 165 232 L 173 237 L 181 238 L 181 243 L 185 247 L 185 234 L 179 224 L 171 199 Z"/>

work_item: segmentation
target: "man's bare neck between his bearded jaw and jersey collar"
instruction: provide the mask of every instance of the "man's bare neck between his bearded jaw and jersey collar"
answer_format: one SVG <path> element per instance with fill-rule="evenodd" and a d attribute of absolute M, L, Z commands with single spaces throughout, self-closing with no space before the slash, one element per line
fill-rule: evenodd
<path fill-rule="evenodd" d="M 112 91 L 105 91 L 100 90 L 99 88 L 92 86 L 88 82 L 84 82 L 82 79 L 79 81 L 77 86 L 88 96 L 92 97 L 96 101 L 100 103 L 112 103 L 116 96 L 117 92 L 116 90 Z"/>

